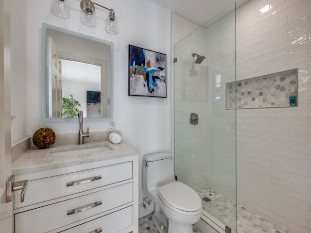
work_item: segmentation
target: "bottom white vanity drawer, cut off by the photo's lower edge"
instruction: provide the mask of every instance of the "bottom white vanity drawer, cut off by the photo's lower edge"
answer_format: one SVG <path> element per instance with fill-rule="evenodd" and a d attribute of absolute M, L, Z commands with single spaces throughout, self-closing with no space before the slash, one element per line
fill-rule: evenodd
<path fill-rule="evenodd" d="M 61 233 L 117 233 L 133 225 L 133 206 L 96 218 Z"/>

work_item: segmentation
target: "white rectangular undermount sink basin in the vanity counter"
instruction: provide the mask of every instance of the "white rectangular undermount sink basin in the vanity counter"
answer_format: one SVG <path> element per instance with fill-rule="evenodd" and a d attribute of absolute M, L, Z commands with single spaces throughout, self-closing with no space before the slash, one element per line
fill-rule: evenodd
<path fill-rule="evenodd" d="M 114 150 L 111 148 L 109 145 L 104 144 L 104 145 L 97 145 L 91 148 L 86 148 L 81 146 L 81 148 L 75 148 L 69 150 L 68 148 L 61 150 L 61 151 L 55 151 L 59 149 L 51 149 L 50 154 L 46 157 L 47 159 L 61 159 L 61 158 L 76 158 L 76 157 L 82 157 L 82 156 L 87 156 L 92 153 L 98 153 L 98 152 L 105 152 L 105 151 L 110 151 Z"/>

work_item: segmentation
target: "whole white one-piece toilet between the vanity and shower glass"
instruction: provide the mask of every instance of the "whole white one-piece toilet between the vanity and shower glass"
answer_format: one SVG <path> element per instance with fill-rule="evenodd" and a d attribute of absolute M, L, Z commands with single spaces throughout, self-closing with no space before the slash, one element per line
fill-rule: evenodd
<path fill-rule="evenodd" d="M 170 153 L 144 156 L 143 191 L 155 202 L 152 220 L 160 233 L 192 233 L 202 201 L 188 185 L 176 182 Z"/>

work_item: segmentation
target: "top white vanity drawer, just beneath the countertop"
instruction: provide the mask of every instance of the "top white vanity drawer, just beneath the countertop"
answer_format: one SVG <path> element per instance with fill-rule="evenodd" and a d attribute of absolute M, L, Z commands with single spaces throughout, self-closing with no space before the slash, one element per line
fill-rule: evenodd
<path fill-rule="evenodd" d="M 133 163 L 126 162 L 28 182 L 24 202 L 14 200 L 14 209 L 53 200 L 92 188 L 133 178 Z M 17 191 L 15 197 L 20 195 Z"/>

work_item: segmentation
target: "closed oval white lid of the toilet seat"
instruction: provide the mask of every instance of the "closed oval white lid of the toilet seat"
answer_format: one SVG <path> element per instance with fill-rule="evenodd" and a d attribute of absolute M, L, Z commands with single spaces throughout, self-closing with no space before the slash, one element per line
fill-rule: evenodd
<path fill-rule="evenodd" d="M 188 185 L 181 182 L 173 182 L 159 187 L 160 199 L 176 209 L 195 212 L 202 208 L 199 195 Z"/>

